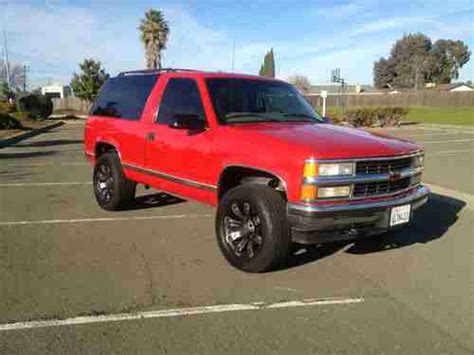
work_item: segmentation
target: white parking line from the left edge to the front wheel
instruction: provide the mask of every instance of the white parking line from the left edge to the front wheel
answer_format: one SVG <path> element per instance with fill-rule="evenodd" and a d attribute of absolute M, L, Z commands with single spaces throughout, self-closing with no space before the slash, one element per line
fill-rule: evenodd
<path fill-rule="evenodd" d="M 99 218 L 77 218 L 77 219 L 45 219 L 42 221 L 5 221 L 1 226 L 28 226 L 38 224 L 65 224 L 65 223 L 94 223 L 94 222 L 117 222 L 117 221 L 146 221 L 154 219 L 182 219 L 182 218 L 209 218 L 212 214 L 178 214 L 162 216 L 132 216 L 132 217 L 99 217 Z"/>

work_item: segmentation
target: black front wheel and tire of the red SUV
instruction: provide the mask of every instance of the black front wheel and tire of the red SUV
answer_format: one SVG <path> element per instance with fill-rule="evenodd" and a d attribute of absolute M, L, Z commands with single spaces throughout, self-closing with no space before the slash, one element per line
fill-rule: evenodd
<path fill-rule="evenodd" d="M 247 272 L 272 270 L 283 264 L 289 254 L 286 201 L 268 186 L 234 187 L 217 209 L 216 234 L 219 247 L 232 266 Z"/>

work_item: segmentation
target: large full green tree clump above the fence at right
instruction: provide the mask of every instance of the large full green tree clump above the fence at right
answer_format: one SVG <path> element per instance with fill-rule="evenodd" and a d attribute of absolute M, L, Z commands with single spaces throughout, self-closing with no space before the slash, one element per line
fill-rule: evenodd
<path fill-rule="evenodd" d="M 378 88 L 420 89 L 427 82 L 450 83 L 469 61 L 470 52 L 462 41 L 438 40 L 424 34 L 403 36 L 388 58 L 374 63 L 374 85 Z"/>

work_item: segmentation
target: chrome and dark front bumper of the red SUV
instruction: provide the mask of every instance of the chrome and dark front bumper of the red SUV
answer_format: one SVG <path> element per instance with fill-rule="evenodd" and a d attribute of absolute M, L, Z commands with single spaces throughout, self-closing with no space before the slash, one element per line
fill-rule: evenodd
<path fill-rule="evenodd" d="M 428 201 L 429 193 L 427 187 L 420 185 L 392 199 L 320 206 L 288 204 L 292 239 L 297 243 L 315 244 L 383 233 L 389 229 L 392 207 L 410 204 L 414 212 Z M 410 221 L 412 219 L 413 213 Z"/>

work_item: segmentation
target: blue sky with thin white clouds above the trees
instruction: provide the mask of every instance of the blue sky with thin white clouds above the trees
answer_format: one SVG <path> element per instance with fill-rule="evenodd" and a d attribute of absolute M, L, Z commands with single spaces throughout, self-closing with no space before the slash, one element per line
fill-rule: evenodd
<path fill-rule="evenodd" d="M 372 84 L 374 61 L 404 34 L 463 40 L 474 48 L 473 0 L 0 0 L 10 61 L 28 66 L 30 87 L 68 84 L 85 58 L 112 75 L 145 67 L 137 30 L 149 8 L 170 25 L 165 67 L 258 74 L 275 52 L 276 76 L 325 84 L 340 68 L 351 84 Z M 233 47 L 235 43 L 234 61 Z M 0 50 L 1 53 L 1 50 Z M 459 81 L 472 80 L 474 54 Z M 234 63 L 234 67 L 232 67 Z"/>

